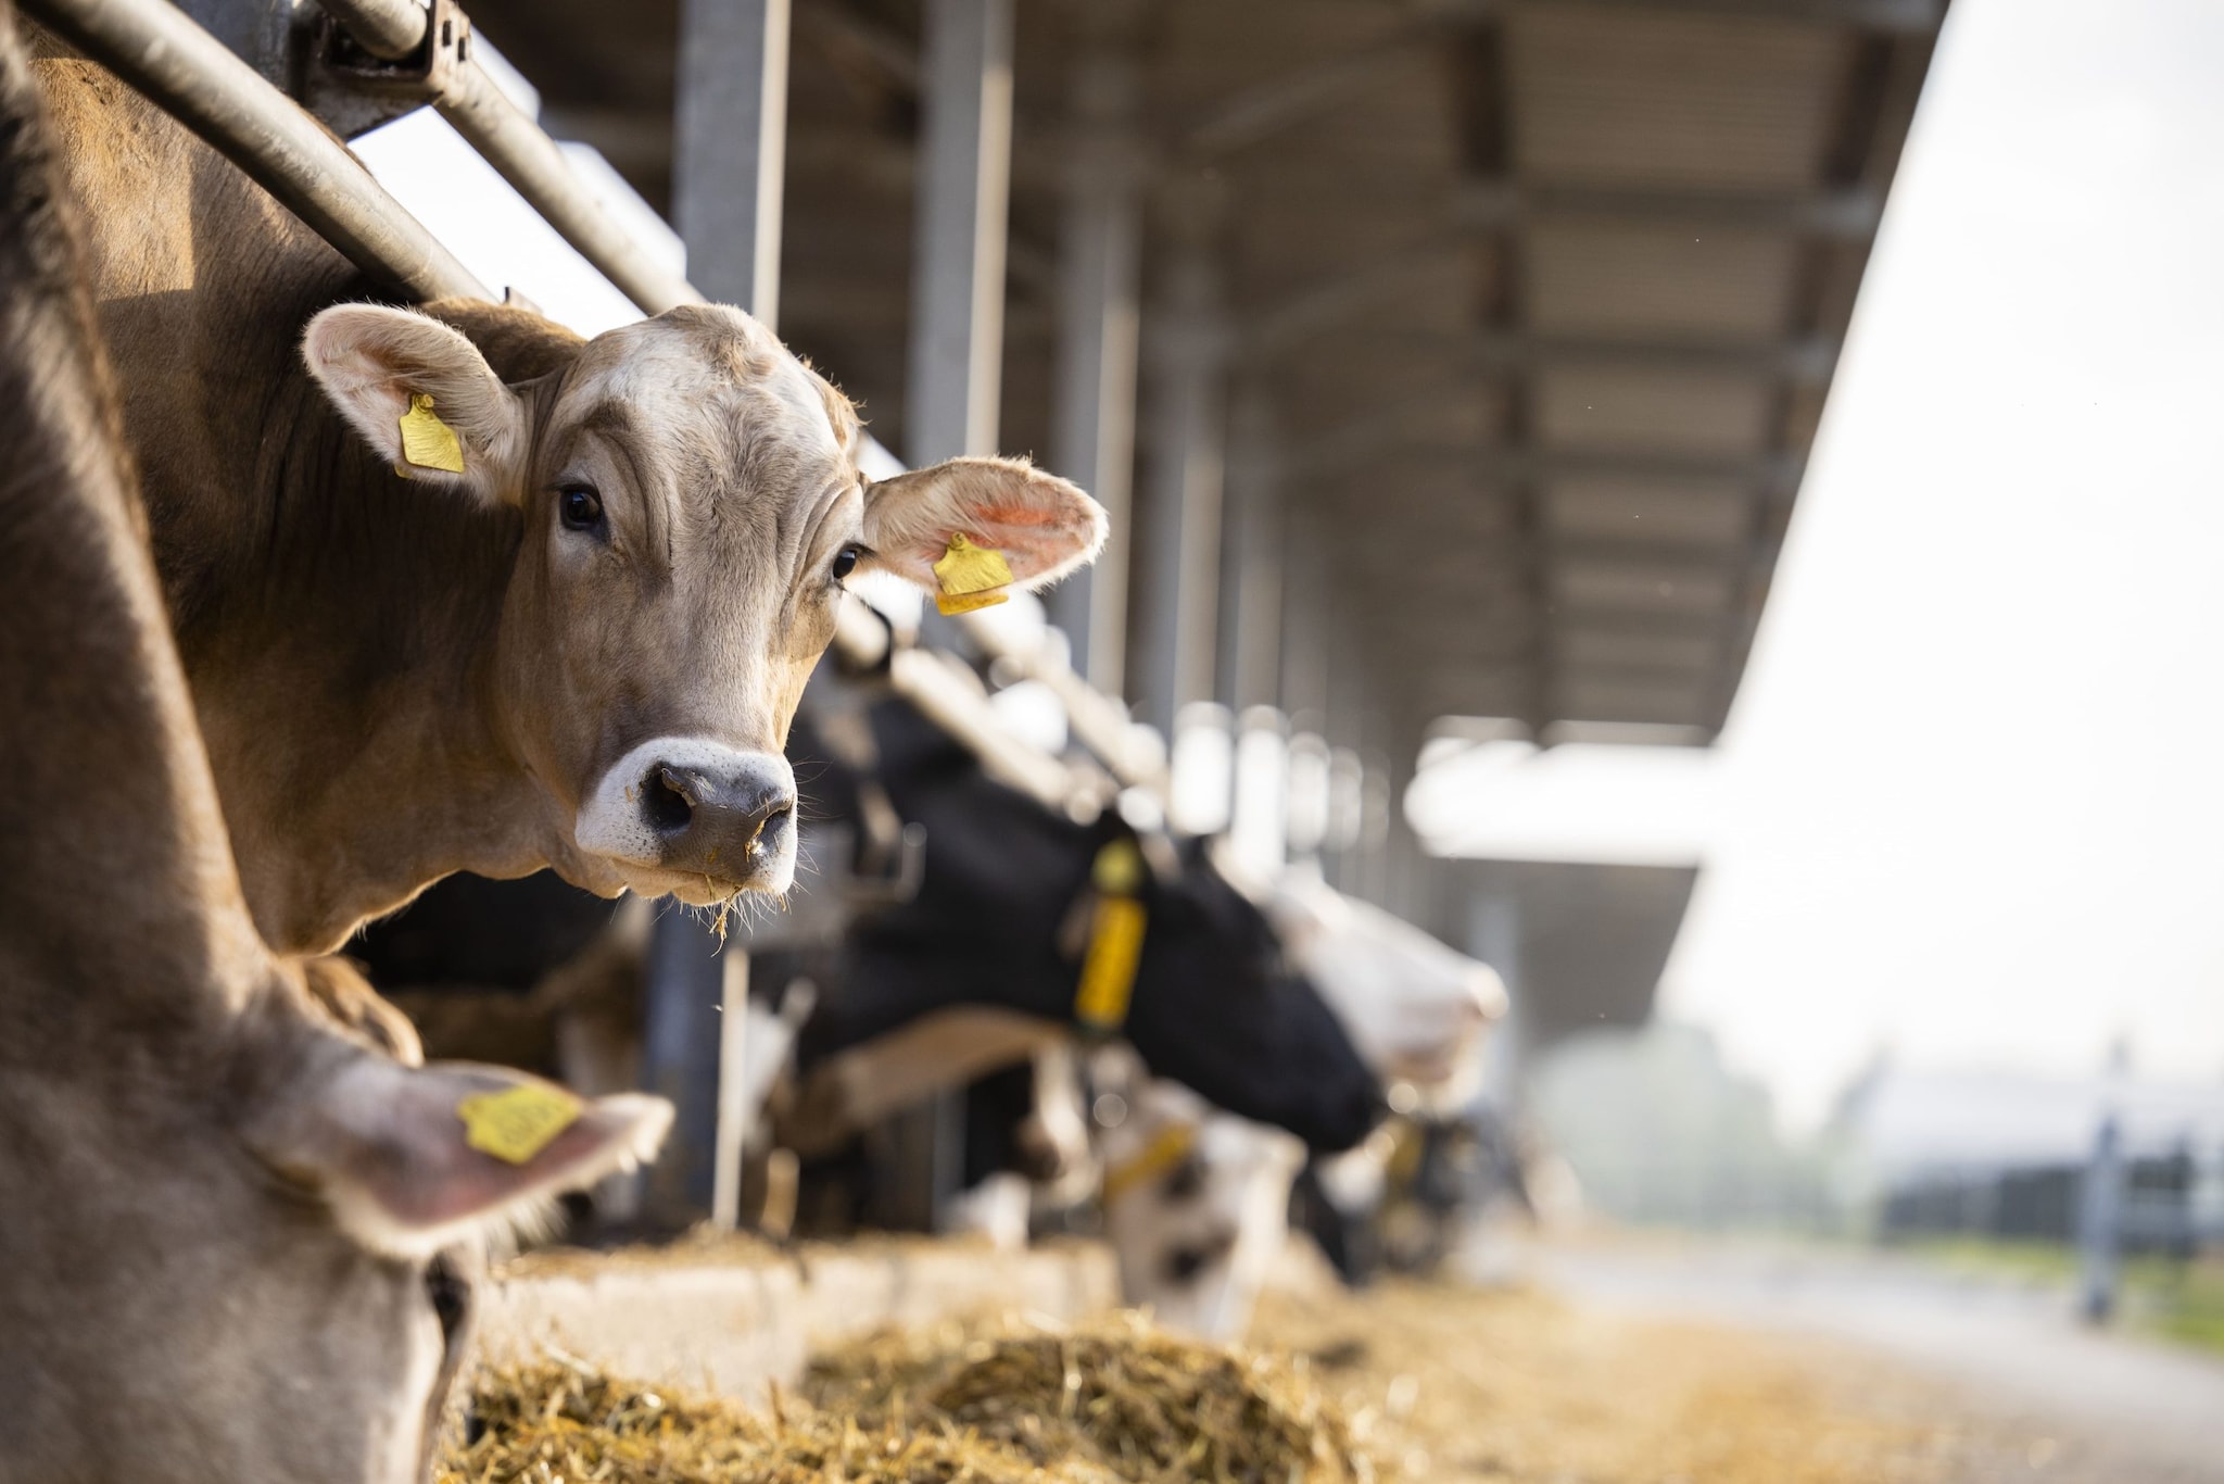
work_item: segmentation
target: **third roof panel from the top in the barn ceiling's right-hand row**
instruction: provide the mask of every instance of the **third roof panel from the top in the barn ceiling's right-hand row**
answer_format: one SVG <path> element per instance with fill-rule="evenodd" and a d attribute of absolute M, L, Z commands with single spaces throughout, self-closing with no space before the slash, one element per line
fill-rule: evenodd
<path fill-rule="evenodd" d="M 1555 367 L 1537 376 L 1546 447 L 1630 454 L 1757 454 L 1775 387 L 1753 376 Z"/>

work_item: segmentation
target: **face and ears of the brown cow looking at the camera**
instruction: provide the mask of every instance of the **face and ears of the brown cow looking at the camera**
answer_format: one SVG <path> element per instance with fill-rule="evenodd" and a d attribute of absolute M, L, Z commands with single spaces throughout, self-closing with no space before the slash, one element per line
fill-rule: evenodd
<path fill-rule="evenodd" d="M 865 481 L 850 403 L 738 309 L 614 329 L 516 387 L 400 309 L 327 309 L 302 354 L 380 458 L 516 514 L 496 730 L 545 859 L 603 894 L 787 890 L 781 748 L 852 572 L 932 590 L 965 536 L 1039 587 L 1103 543 L 1096 503 L 1025 463 Z"/>

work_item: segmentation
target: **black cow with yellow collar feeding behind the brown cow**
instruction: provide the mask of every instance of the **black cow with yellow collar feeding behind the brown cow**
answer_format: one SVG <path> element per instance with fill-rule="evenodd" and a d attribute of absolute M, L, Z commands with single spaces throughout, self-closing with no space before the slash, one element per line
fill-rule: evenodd
<path fill-rule="evenodd" d="M 816 1092 L 818 1104 L 870 1099 L 858 1112 L 881 1110 L 903 1081 L 898 1035 L 923 1055 L 992 1048 L 994 1061 L 965 1068 L 987 1072 L 1027 1050 L 1030 1028 L 1090 1030 L 1076 995 L 1092 868 L 1108 845 L 1136 845 L 1150 861 L 1134 892 L 1145 928 L 1119 1039 L 1152 1075 L 1312 1148 L 1343 1150 L 1374 1128 L 1379 1079 L 1321 992 L 1290 968 L 1268 917 L 1199 841 L 1139 841 L 1114 814 L 1059 819 L 992 781 L 901 701 L 872 708 L 870 725 L 878 754 L 870 779 L 925 828 L 925 872 L 910 901 L 858 919 L 843 939 L 818 1015 L 803 1028 L 805 1106 Z M 798 728 L 792 752 L 805 792 L 818 788 L 825 808 L 841 808 L 832 799 L 845 768 L 823 761 L 825 743 Z M 961 1030 L 939 1037 L 939 1026 Z M 841 1077 L 852 1057 L 870 1075 Z M 830 1081 L 843 1086 L 827 1092 Z"/>

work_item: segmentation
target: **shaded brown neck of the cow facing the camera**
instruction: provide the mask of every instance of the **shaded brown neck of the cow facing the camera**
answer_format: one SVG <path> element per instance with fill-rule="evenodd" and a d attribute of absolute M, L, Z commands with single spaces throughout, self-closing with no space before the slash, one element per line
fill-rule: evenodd
<path fill-rule="evenodd" d="M 396 478 L 305 374 L 285 400 L 269 525 L 180 647 L 256 926 L 331 952 L 449 872 L 545 865 L 549 805 L 496 721 L 518 516 Z"/>

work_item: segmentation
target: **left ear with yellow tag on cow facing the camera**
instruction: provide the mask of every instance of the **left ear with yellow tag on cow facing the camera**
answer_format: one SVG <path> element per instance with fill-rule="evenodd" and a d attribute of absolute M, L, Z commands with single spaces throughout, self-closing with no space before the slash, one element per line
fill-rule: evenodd
<path fill-rule="evenodd" d="M 525 478 L 525 403 L 463 334 L 414 309 L 334 305 L 300 338 L 331 405 L 409 478 L 514 501 Z"/>

